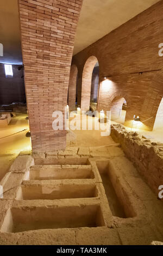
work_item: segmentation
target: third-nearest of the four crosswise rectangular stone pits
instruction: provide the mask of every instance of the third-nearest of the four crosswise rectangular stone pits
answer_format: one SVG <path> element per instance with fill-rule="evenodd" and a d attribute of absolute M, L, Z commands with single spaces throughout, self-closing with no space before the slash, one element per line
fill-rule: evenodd
<path fill-rule="evenodd" d="M 35 165 L 30 168 L 29 180 L 73 180 L 95 178 L 91 165 Z"/>

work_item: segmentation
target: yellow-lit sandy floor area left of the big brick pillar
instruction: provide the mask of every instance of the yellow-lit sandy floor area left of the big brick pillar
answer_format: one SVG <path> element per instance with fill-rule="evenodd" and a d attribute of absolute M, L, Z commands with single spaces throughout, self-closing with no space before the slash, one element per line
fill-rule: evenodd
<path fill-rule="evenodd" d="M 17 114 L 7 128 L 0 129 L 0 180 L 20 151 L 31 148 L 30 138 L 26 137 L 28 130 L 21 132 L 24 129 L 29 129 L 26 117 L 25 114 Z"/>

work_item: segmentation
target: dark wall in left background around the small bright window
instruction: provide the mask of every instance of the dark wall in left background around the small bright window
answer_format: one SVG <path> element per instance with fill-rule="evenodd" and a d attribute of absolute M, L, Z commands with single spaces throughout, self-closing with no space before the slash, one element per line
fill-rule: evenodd
<path fill-rule="evenodd" d="M 24 79 L 20 65 L 12 65 L 12 77 L 5 76 L 4 64 L 0 64 L 0 105 L 8 105 L 13 102 L 26 102 Z"/>

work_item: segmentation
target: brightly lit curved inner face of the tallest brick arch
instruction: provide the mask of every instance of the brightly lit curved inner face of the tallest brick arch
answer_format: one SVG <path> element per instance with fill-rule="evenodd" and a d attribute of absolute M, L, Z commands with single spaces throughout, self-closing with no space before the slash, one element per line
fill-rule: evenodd
<path fill-rule="evenodd" d="M 90 56 L 83 68 L 81 109 L 85 111 L 90 109 L 92 72 L 97 62 L 98 59 L 95 56 Z"/>

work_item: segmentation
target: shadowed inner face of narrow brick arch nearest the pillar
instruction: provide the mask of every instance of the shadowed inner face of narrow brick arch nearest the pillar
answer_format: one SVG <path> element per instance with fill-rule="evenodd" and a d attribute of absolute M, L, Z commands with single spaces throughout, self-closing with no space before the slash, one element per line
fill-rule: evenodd
<path fill-rule="evenodd" d="M 74 109 L 76 107 L 77 75 L 78 75 L 78 68 L 75 64 L 72 64 L 71 70 L 70 70 L 69 85 L 68 85 L 68 105 L 70 109 Z"/>

